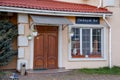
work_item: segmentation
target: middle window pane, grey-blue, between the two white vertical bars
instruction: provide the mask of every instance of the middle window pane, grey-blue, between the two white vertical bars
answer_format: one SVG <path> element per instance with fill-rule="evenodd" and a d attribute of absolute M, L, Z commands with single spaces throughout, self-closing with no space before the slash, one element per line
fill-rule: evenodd
<path fill-rule="evenodd" d="M 82 29 L 82 52 L 84 55 L 90 54 L 90 29 Z"/>

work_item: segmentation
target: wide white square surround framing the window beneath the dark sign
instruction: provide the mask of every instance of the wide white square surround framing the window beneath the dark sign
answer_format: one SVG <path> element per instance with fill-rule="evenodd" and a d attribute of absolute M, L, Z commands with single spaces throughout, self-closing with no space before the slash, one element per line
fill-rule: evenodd
<path fill-rule="evenodd" d="M 103 25 L 86 25 L 86 24 L 74 24 L 74 25 L 70 25 L 69 26 L 69 29 L 68 29 L 68 32 L 70 32 L 70 30 L 71 30 L 71 28 L 103 28 L 102 30 L 102 38 L 104 38 L 104 39 L 102 39 L 103 41 L 103 44 L 104 44 L 104 46 L 102 47 L 102 58 L 72 58 L 72 56 L 71 56 L 71 36 L 70 36 L 70 33 L 68 33 L 68 35 L 69 35 L 69 40 L 70 40 L 70 42 L 69 42 L 69 44 L 68 44 L 68 58 L 69 58 L 69 61 L 82 61 L 82 60 L 89 60 L 89 61 L 91 61 L 91 60 L 107 60 L 106 59 L 106 27 L 105 26 L 103 26 Z M 81 29 L 80 29 L 81 30 Z M 80 32 L 81 33 L 81 32 Z M 80 39 L 82 39 L 81 37 L 80 37 Z M 81 40 L 80 40 L 81 41 Z M 91 40 L 90 40 L 91 41 Z M 80 45 L 81 46 L 81 45 Z M 104 54 L 104 55 L 103 55 Z"/>

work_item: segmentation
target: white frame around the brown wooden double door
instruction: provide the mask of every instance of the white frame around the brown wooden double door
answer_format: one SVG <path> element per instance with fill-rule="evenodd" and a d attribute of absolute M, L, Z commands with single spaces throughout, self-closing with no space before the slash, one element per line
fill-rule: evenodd
<path fill-rule="evenodd" d="M 32 24 L 30 27 L 30 31 L 34 29 L 35 25 L 39 26 L 48 26 L 48 25 L 41 25 L 41 24 Z M 62 25 L 49 25 L 57 26 L 58 27 L 58 68 L 63 68 L 62 66 Z M 34 37 L 30 41 L 30 69 L 34 69 Z"/>

